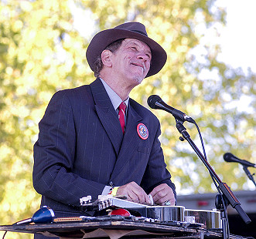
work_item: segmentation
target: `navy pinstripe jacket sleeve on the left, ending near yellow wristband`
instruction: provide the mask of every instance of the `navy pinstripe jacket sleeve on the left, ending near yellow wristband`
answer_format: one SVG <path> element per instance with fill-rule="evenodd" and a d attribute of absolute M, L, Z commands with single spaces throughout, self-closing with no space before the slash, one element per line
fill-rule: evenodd
<path fill-rule="evenodd" d="M 50 100 L 34 145 L 33 186 L 39 194 L 79 206 L 80 197 L 101 194 L 105 185 L 72 173 L 76 151 L 73 109 L 65 91 Z"/>

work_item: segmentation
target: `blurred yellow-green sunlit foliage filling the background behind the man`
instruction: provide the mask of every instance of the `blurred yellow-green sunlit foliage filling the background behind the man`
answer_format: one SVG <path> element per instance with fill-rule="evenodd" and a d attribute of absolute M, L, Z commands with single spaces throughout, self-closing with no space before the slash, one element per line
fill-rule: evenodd
<path fill-rule="evenodd" d="M 215 39 L 225 11 L 214 1 L 0 0 L 1 224 L 31 217 L 39 208 L 32 187 L 32 146 L 49 99 L 59 89 L 92 82 L 85 59 L 91 37 L 127 21 L 144 23 L 168 53 L 162 71 L 145 79 L 131 97 L 147 106 L 148 96 L 158 94 L 192 116 L 219 177 L 232 190 L 250 189 L 241 167 L 224 163 L 223 154 L 256 163 L 255 75 L 218 61 Z M 213 35 L 210 41 L 207 31 Z M 162 147 L 178 194 L 216 191 L 189 144 L 179 141 L 174 118 L 153 113 L 162 124 Z M 201 149 L 195 126 L 184 125 Z"/>

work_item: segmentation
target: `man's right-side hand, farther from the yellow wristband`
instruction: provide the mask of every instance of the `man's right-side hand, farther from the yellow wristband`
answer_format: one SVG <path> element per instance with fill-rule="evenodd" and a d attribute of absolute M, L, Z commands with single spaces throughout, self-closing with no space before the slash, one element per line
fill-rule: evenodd
<path fill-rule="evenodd" d="M 152 195 L 155 204 L 163 206 L 165 205 L 165 202 L 169 200 L 170 206 L 175 205 L 175 196 L 172 188 L 166 183 L 162 183 L 155 187 L 150 194 Z"/>

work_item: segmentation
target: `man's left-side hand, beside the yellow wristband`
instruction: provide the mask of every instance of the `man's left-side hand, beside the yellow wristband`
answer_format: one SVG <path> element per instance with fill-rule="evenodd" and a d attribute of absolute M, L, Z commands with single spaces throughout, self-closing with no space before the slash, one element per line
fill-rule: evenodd
<path fill-rule="evenodd" d="M 117 195 L 126 196 L 127 200 L 131 200 L 138 204 L 150 204 L 151 201 L 145 190 L 138 186 L 137 183 L 127 183 L 118 188 Z"/>

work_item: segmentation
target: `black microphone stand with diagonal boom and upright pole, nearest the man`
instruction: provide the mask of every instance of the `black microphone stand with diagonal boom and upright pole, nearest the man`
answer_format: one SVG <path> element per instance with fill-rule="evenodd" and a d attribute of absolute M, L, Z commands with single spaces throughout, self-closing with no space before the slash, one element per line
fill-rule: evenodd
<path fill-rule="evenodd" d="M 217 182 L 217 190 L 221 191 L 220 197 L 222 198 L 222 204 L 220 205 L 221 207 L 219 208 L 221 210 L 221 215 L 223 216 L 224 214 L 227 214 L 227 207 L 229 204 L 237 210 L 237 213 L 241 216 L 241 218 L 244 220 L 246 224 L 249 224 L 251 222 L 251 219 L 247 216 L 247 214 L 244 212 L 243 208 L 241 207 L 241 204 L 237 197 L 233 194 L 232 190 L 230 190 L 230 187 L 227 186 L 227 183 L 223 183 L 220 178 L 217 176 L 217 173 L 213 170 L 213 168 L 210 166 L 210 164 L 207 162 L 205 157 L 203 157 L 203 154 L 200 152 L 200 150 L 197 148 L 195 143 L 193 143 L 193 140 L 191 140 L 189 133 L 187 133 L 186 128 L 183 126 L 184 121 L 179 120 L 175 118 L 176 120 L 176 128 L 183 135 L 183 139 L 180 140 L 187 140 L 192 146 L 193 150 L 197 154 L 197 156 L 202 160 L 203 164 L 207 167 L 207 170 L 209 170 L 211 177 Z M 226 211 L 224 211 L 226 210 Z M 223 220 L 223 234 L 224 238 L 227 238 L 227 221 L 226 219 Z"/>

